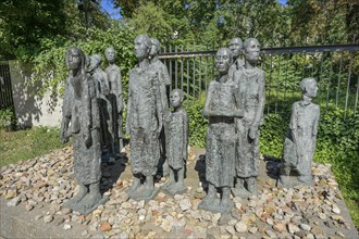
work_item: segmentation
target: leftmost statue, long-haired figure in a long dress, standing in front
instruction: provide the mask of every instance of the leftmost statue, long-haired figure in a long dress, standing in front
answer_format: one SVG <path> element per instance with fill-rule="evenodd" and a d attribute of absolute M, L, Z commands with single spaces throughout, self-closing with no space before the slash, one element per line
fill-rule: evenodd
<path fill-rule="evenodd" d="M 106 199 L 100 193 L 101 149 L 99 109 L 95 81 L 86 73 L 86 60 L 82 50 L 70 48 L 66 52 L 70 75 L 62 108 L 61 139 L 73 139 L 74 174 L 78 193 L 62 206 L 82 214 L 89 214 Z M 69 128 L 69 124 L 71 127 Z"/>

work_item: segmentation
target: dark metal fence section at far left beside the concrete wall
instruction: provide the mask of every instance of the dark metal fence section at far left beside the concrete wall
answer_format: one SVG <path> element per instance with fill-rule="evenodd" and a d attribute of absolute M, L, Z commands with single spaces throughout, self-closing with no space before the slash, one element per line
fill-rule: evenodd
<path fill-rule="evenodd" d="M 8 62 L 0 62 L 0 110 L 14 106 Z"/>

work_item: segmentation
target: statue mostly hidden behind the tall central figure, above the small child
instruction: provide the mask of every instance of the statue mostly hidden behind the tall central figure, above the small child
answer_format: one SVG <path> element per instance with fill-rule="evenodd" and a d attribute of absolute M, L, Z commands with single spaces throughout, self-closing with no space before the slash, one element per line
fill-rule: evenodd
<path fill-rule="evenodd" d="M 150 63 L 153 68 L 158 71 L 159 74 L 159 81 L 160 81 L 160 93 L 161 93 L 161 102 L 162 102 L 162 110 L 163 110 L 163 115 L 166 115 L 169 113 L 169 98 L 168 98 L 168 90 L 171 85 L 171 79 L 169 75 L 168 67 L 165 64 L 163 64 L 159 60 L 159 51 L 160 51 L 160 41 L 158 39 L 151 38 L 152 47 L 150 51 Z M 163 122 L 165 123 L 165 122 Z M 164 125 L 163 125 L 164 127 Z M 168 175 L 169 174 L 169 163 L 165 161 L 165 130 L 162 128 L 161 134 L 160 134 L 160 150 L 161 150 L 161 158 L 159 162 L 159 173 L 162 173 L 162 175 Z"/>

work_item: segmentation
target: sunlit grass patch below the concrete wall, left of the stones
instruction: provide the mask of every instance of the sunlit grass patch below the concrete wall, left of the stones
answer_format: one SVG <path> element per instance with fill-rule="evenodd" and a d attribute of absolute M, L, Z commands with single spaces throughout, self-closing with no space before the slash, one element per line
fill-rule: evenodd
<path fill-rule="evenodd" d="M 67 144 L 61 142 L 60 129 L 55 127 L 39 126 L 17 131 L 1 129 L 0 166 L 41 156 Z"/>

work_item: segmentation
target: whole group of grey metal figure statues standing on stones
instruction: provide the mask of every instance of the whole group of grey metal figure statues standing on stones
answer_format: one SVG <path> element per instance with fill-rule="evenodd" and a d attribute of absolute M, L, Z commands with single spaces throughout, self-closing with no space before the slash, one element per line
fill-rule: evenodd
<path fill-rule="evenodd" d="M 161 187 L 171 194 L 184 193 L 188 149 L 188 117 L 183 109 L 184 92 L 169 93 L 171 78 L 158 59 L 160 42 L 146 35 L 134 40 L 138 60 L 129 72 L 126 134 L 131 136 L 133 180 L 127 193 L 135 200 L 156 197 L 154 176 L 169 176 Z M 242 58 L 242 54 L 244 58 Z M 265 74 L 257 66 L 260 43 L 233 38 L 214 58 L 218 77 L 209 84 L 203 116 L 208 117 L 206 179 L 208 192 L 199 209 L 227 213 L 231 194 L 258 193 L 259 135 L 263 123 Z M 101 155 L 110 159 L 123 147 L 121 71 L 115 51 L 106 50 L 109 66 L 100 67 L 101 56 L 86 56 L 78 48 L 66 52 L 70 75 L 63 102 L 62 140 L 73 138 L 74 172 L 78 193 L 63 204 L 88 214 L 106 202 L 100 193 Z M 312 185 L 311 162 L 315 148 L 319 106 L 311 102 L 318 87 L 313 78 L 300 83 L 302 100 L 293 106 L 285 139 L 284 163 L 278 185 Z M 170 99 L 169 99 L 170 97 Z M 171 105 L 169 105 L 169 103 Z M 69 125 L 71 126 L 69 128 Z M 298 180 L 293 180 L 293 172 Z M 218 198 L 218 193 L 221 194 Z"/>

